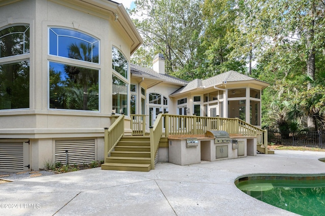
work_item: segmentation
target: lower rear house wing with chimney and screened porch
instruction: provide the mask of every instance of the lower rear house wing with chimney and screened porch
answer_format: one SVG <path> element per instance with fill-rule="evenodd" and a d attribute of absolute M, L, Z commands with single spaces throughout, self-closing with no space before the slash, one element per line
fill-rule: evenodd
<path fill-rule="evenodd" d="M 146 85 L 148 98 L 145 100 L 146 109 L 143 109 L 146 112 L 141 113 L 149 116 L 149 126 L 159 112 L 168 111 L 177 115 L 238 117 L 261 127 L 261 97 L 268 83 L 236 71 L 187 82 L 165 74 L 165 68 L 158 66 L 164 65 L 164 62 L 160 54 L 153 60 L 153 69 L 131 64 L 133 77 L 142 77 L 142 82 L 156 79 L 156 82 Z"/>

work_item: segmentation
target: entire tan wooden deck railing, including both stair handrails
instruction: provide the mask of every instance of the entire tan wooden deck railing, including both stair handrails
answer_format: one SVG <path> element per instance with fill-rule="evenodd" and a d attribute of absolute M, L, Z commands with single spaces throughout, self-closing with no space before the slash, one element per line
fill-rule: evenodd
<path fill-rule="evenodd" d="M 138 131 L 133 132 L 133 134 L 144 135 L 145 116 L 132 115 L 132 120 L 135 122 L 135 124 L 131 124 L 132 129 Z M 164 128 L 165 134 L 163 134 Z M 265 146 L 267 149 L 267 131 L 248 124 L 239 118 L 203 117 L 195 115 L 186 116 L 159 113 L 153 126 L 150 127 L 151 168 L 154 169 L 155 166 L 155 157 L 161 137 L 168 138 L 169 135 L 204 134 L 206 131 L 226 131 L 229 134 L 241 134 L 244 137 L 256 137 L 257 144 Z M 105 128 L 105 158 L 114 149 L 123 135 L 124 115 L 120 115 L 118 118 L 115 117 L 114 123 L 109 128 Z"/>

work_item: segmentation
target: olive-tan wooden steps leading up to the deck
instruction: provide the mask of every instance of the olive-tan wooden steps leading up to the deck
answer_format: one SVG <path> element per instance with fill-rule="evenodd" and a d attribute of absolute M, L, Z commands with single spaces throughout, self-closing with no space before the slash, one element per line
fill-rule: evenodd
<path fill-rule="evenodd" d="M 149 136 L 126 136 L 115 146 L 111 155 L 105 158 L 102 169 L 150 171 Z"/>

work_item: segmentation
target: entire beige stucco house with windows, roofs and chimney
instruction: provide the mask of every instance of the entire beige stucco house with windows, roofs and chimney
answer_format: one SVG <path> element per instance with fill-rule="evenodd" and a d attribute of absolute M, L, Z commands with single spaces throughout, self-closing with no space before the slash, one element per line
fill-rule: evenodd
<path fill-rule="evenodd" d="M 229 71 L 190 82 L 130 63 L 143 40 L 107 0 L 0 1 L 0 170 L 104 159 L 104 127 L 124 113 L 239 117 L 261 125 L 267 83 Z"/>

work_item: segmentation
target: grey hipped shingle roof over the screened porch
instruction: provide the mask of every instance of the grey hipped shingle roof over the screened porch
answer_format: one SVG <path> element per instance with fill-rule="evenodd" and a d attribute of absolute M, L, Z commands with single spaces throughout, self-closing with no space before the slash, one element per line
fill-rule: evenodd
<path fill-rule="evenodd" d="M 213 85 L 222 83 L 224 81 L 234 82 L 234 81 L 246 81 L 246 80 L 257 80 L 257 79 L 254 79 L 250 76 L 230 70 L 228 72 L 218 74 L 218 75 L 210 77 L 208 79 L 204 79 L 204 80 L 194 79 L 194 80 L 190 81 L 185 87 L 180 88 L 179 90 L 175 91 L 171 95 L 176 94 L 176 93 L 187 92 L 187 91 L 190 91 L 192 89 L 197 89 L 197 88 L 209 88 L 209 87 L 212 87 Z M 257 81 L 261 81 L 261 80 L 257 80 Z M 261 82 L 263 82 L 263 81 L 261 81 Z"/>

